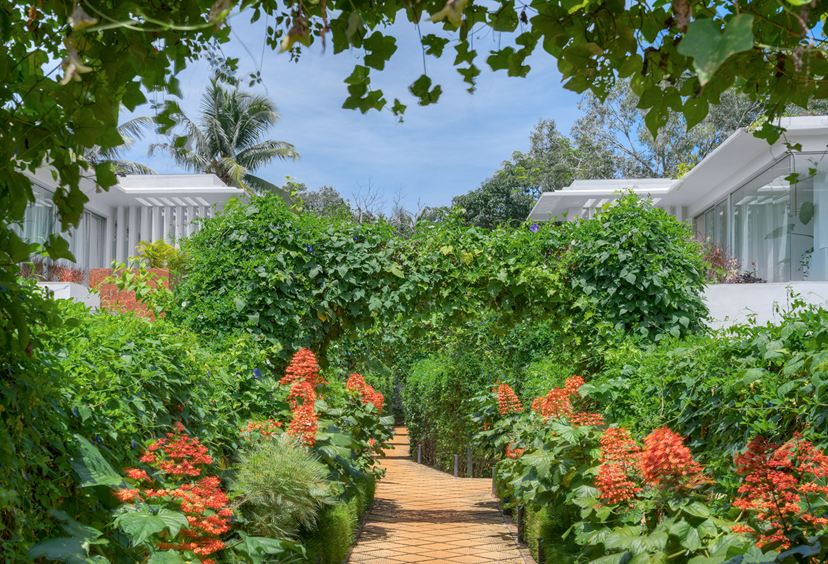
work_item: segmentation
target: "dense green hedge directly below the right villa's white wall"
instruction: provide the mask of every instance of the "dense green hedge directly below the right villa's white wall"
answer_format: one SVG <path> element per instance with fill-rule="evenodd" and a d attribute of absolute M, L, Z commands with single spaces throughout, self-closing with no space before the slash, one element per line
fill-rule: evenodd
<path fill-rule="evenodd" d="M 607 356 L 585 393 L 638 433 L 676 429 L 732 493 L 738 483 L 727 469 L 756 435 L 781 442 L 802 433 L 828 447 L 826 344 L 822 308 L 787 314 L 779 325 L 629 342 Z"/>

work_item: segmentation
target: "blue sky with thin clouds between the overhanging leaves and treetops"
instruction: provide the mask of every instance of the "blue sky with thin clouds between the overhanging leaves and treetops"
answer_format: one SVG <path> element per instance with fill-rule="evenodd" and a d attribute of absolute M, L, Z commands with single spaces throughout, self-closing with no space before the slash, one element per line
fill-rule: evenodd
<path fill-rule="evenodd" d="M 360 63 L 361 51 L 333 55 L 329 41 L 322 53 L 320 41 L 315 41 L 303 48 L 298 62 L 267 46 L 262 58 L 265 30 L 274 22 L 262 17 L 251 24 L 249 19 L 248 13 L 231 19 L 232 41 L 223 50 L 228 57 L 238 57 L 239 76 L 261 66 L 262 84 L 252 89 L 267 93 L 282 114 L 268 137 L 292 143 L 301 154 L 296 163 L 277 162 L 256 173 L 276 184 L 283 184 L 284 177 L 291 175 L 310 189 L 327 184 L 344 198 L 353 198 L 360 185 L 370 182 L 383 189 L 389 205 L 401 188 L 408 194 L 404 203 L 409 209 L 416 208 L 418 200 L 422 205 L 446 205 L 452 196 L 479 187 L 512 151 L 527 151 L 529 133 L 538 119 L 552 118 L 567 133 L 580 115 L 580 96 L 562 88 L 555 60 L 540 45 L 527 59 L 532 71 L 525 79 L 489 69 L 485 59 L 490 50 L 498 49 L 501 38 L 488 28 L 474 34 L 476 64 L 482 71 L 477 91 L 466 93 L 468 84 L 451 65 L 455 55 L 452 42 L 442 58 L 426 57 L 432 83 L 443 87 L 440 102 L 418 106 L 407 87 L 422 74 L 422 51 L 416 26 L 403 22 L 404 18 L 383 31 L 396 36 L 397 52 L 384 71 L 372 69 L 371 76 L 373 88 L 383 89 L 389 107 L 393 98 L 407 105 L 405 121 L 397 122 L 390 111 L 371 110 L 363 115 L 345 110 L 341 106 L 347 90 L 342 81 Z M 446 36 L 438 24 L 421 22 L 420 26 L 423 35 Z M 503 36 L 502 46 L 506 40 Z M 184 95 L 180 103 L 190 117 L 198 116 L 209 75 L 206 61 L 179 74 Z M 161 94 L 151 96 L 161 99 Z M 135 115 L 150 112 L 148 107 L 137 108 Z M 138 142 L 128 158 L 160 173 L 182 172 L 166 156 L 146 155 L 146 146 L 156 141 L 167 139 L 153 133 Z"/>

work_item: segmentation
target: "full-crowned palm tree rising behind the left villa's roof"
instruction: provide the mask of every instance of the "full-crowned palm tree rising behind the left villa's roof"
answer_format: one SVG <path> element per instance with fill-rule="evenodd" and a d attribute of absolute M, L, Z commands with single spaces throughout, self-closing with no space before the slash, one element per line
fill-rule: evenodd
<path fill-rule="evenodd" d="M 273 159 L 298 160 L 299 153 L 284 141 L 259 141 L 276 125 L 279 113 L 267 96 L 222 88 L 213 80 L 201 98 L 200 127 L 175 102 L 167 102 L 165 113 L 184 130 L 186 142 L 153 143 L 147 154 L 165 152 L 177 165 L 194 172 L 212 173 L 225 184 L 248 194 L 283 190 L 276 184 L 250 174 Z"/>

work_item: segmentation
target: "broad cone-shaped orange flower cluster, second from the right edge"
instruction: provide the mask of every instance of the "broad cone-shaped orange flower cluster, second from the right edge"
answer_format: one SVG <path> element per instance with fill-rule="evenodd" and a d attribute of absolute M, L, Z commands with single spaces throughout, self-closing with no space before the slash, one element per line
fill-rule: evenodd
<path fill-rule="evenodd" d="M 661 488 L 694 488 L 708 482 L 684 440 L 670 429 L 656 429 L 644 438 L 641 473 L 648 484 Z"/>

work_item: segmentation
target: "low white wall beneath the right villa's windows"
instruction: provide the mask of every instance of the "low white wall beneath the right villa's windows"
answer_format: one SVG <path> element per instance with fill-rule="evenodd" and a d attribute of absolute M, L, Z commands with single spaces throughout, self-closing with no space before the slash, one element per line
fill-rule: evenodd
<path fill-rule="evenodd" d="M 728 327 L 735 323 L 746 323 L 751 313 L 756 322 L 779 323 L 781 319 L 774 311 L 779 305 L 785 311 L 791 308 L 790 292 L 800 294 L 807 304 L 828 308 L 828 282 L 779 282 L 766 284 L 713 284 L 705 289 L 705 300 L 710 309 L 713 329 Z"/>

